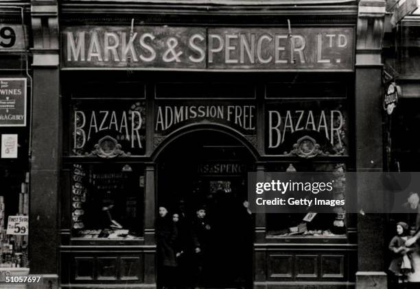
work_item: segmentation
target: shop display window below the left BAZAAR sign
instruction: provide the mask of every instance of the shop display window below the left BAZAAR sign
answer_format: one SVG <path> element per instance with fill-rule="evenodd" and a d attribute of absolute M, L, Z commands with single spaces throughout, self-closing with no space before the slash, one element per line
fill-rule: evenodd
<path fill-rule="evenodd" d="M 73 164 L 71 181 L 73 238 L 141 238 L 144 194 L 141 166 Z"/>

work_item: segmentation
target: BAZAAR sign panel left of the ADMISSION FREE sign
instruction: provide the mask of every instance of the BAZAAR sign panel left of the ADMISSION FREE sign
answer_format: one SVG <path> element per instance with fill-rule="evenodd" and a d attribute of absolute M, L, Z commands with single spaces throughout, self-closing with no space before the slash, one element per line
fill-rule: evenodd
<path fill-rule="evenodd" d="M 73 155 L 115 158 L 145 152 L 144 101 L 75 100 L 71 124 Z"/>

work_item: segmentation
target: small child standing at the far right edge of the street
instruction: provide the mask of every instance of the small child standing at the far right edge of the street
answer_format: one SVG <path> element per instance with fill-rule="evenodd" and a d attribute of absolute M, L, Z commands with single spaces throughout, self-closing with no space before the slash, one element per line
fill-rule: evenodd
<path fill-rule="evenodd" d="M 389 243 L 389 249 L 393 252 L 393 260 L 390 262 L 388 270 L 397 277 L 399 288 L 405 288 L 407 277 L 412 273 L 409 255 L 412 249 L 405 245 L 409 237 L 407 223 L 399 222 L 397 223 L 397 235 Z"/>

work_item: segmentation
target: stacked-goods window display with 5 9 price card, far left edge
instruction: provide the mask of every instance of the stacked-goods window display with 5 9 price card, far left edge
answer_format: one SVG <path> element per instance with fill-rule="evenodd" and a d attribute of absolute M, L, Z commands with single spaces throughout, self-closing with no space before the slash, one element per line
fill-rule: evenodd
<path fill-rule="evenodd" d="M 27 268 L 29 173 L 0 167 L 0 268 Z"/>

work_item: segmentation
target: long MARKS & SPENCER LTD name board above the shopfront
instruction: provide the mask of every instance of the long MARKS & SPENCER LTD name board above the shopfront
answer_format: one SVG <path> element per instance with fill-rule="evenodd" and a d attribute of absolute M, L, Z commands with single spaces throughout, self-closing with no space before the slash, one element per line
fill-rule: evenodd
<path fill-rule="evenodd" d="M 79 26 L 62 34 L 63 68 L 353 71 L 352 27 Z"/>

